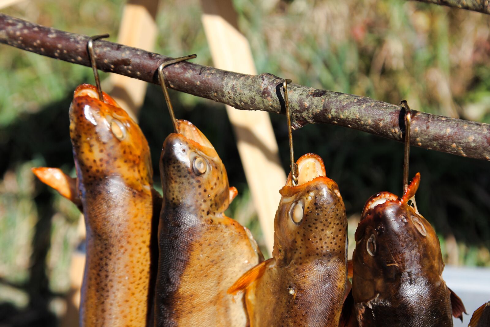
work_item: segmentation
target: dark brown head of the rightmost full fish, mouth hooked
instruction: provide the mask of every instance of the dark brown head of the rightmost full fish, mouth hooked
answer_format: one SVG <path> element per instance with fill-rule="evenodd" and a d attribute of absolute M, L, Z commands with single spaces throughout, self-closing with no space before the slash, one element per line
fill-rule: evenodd
<path fill-rule="evenodd" d="M 398 280 L 403 273 L 441 275 L 444 263 L 436 232 L 410 204 L 419 181 L 417 173 L 401 198 L 382 192 L 366 202 L 355 233 L 358 280 L 374 280 L 379 286 Z"/>

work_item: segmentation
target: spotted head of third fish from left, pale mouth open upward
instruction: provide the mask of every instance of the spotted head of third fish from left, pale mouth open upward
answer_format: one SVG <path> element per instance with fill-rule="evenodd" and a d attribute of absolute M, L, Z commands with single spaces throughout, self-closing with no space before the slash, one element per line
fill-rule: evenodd
<path fill-rule="evenodd" d="M 280 190 L 274 220 L 273 257 L 281 265 L 300 264 L 328 255 L 344 258 L 345 207 L 337 183 L 326 177 L 319 155 L 307 153 L 298 161 L 298 184 L 291 174 Z"/>

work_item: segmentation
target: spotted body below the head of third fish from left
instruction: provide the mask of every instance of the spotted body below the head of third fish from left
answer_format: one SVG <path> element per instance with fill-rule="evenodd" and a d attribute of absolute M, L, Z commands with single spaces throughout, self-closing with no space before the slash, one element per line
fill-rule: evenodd
<path fill-rule="evenodd" d="M 251 327 L 338 327 L 346 283 L 341 259 L 268 268 L 247 292 Z"/>

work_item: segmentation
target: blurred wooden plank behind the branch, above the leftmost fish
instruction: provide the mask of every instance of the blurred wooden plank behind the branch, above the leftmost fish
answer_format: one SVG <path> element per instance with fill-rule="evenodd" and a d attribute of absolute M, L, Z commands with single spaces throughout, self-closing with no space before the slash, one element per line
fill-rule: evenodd
<path fill-rule="evenodd" d="M 158 0 L 129 0 L 123 9 L 119 27 L 118 43 L 152 51 L 157 36 L 155 22 Z M 130 68 L 129 68 L 130 69 Z M 147 83 L 118 74 L 111 74 L 105 85 L 116 102 L 136 121 L 145 94 Z"/>

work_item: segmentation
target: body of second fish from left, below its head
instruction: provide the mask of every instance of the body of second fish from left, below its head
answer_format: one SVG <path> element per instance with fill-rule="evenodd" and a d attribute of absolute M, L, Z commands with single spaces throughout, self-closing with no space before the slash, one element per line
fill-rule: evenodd
<path fill-rule="evenodd" d="M 245 295 L 226 291 L 259 257 L 226 219 L 161 231 L 155 326 L 247 326 Z"/>

